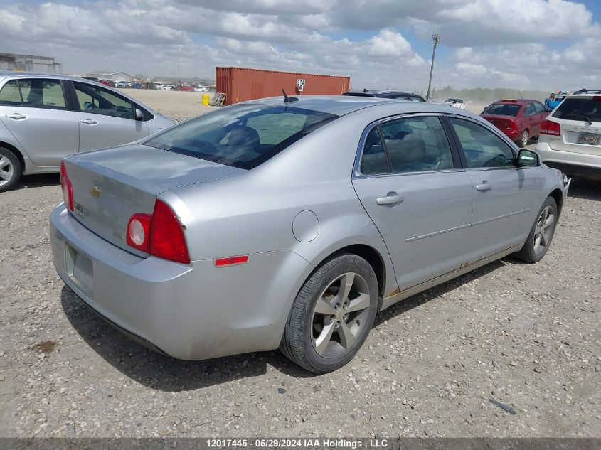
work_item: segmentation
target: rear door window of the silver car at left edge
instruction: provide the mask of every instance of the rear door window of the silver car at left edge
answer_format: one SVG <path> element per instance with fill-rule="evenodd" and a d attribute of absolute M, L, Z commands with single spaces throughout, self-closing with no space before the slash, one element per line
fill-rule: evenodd
<path fill-rule="evenodd" d="M 63 86 L 60 80 L 47 80 L 44 78 L 26 78 L 12 80 L 0 92 L 0 98 L 11 102 L 11 105 L 22 105 L 29 108 L 67 109 Z M 18 85 L 18 92 L 17 86 Z M 5 88 L 6 94 L 4 93 Z M 4 101 L 6 101 L 4 100 Z M 5 103 L 2 103 L 3 105 Z"/>

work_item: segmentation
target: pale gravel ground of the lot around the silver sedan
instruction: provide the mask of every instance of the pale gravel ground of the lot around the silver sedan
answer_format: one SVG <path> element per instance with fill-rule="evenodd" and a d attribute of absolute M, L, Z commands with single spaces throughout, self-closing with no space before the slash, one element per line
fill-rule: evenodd
<path fill-rule="evenodd" d="M 601 437 L 600 183 L 573 181 L 543 261 L 383 311 L 319 376 L 277 351 L 174 360 L 107 326 L 53 269 L 60 198 L 56 175 L 0 194 L 0 436 Z"/>

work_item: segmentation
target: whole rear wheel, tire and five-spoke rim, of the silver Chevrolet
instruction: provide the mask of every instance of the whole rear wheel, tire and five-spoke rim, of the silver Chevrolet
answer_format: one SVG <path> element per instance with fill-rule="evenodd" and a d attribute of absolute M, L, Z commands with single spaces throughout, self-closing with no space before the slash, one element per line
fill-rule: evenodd
<path fill-rule="evenodd" d="M 377 308 L 378 281 L 371 265 L 357 255 L 334 255 L 294 299 L 280 350 L 314 373 L 341 368 L 365 342 Z"/>

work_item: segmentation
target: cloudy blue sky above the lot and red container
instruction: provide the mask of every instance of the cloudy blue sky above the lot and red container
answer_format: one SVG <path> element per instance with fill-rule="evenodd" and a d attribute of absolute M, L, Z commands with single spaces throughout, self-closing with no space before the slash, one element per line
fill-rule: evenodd
<path fill-rule="evenodd" d="M 63 73 L 348 75 L 353 88 L 601 87 L 601 0 L 0 0 L 0 52 Z"/>

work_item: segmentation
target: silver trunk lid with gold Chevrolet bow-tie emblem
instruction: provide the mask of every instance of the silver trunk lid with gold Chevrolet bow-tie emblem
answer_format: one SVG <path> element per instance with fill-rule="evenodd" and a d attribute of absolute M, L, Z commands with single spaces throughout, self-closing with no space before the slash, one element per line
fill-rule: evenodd
<path fill-rule="evenodd" d="M 204 159 L 130 144 L 65 159 L 73 185 L 73 216 L 90 231 L 139 256 L 125 242 L 134 213 L 152 214 L 156 197 L 169 189 L 236 176 L 246 171 Z"/>

